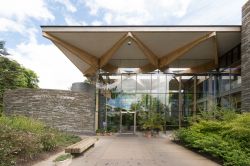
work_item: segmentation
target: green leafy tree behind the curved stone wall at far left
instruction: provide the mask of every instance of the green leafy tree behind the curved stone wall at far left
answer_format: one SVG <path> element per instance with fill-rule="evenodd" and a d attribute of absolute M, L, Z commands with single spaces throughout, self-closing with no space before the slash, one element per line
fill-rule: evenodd
<path fill-rule="evenodd" d="M 38 76 L 18 62 L 0 56 L 0 112 L 3 106 L 3 94 L 8 89 L 38 88 Z"/>

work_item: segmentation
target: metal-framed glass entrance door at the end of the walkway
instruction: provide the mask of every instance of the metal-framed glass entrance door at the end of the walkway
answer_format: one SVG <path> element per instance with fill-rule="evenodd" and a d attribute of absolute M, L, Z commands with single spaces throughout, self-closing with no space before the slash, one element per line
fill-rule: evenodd
<path fill-rule="evenodd" d="M 136 111 L 120 111 L 120 133 L 136 133 Z"/>

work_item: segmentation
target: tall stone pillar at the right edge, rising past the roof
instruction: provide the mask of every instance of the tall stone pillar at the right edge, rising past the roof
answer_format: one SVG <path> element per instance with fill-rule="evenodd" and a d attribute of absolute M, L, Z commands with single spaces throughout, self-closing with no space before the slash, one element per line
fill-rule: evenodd
<path fill-rule="evenodd" d="M 242 111 L 250 111 L 250 0 L 242 7 L 241 31 Z"/>

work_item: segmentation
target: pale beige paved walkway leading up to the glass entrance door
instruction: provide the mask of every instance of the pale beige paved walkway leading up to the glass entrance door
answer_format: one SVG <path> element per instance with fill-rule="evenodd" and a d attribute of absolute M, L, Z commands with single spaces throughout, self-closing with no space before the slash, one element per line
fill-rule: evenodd
<path fill-rule="evenodd" d="M 167 138 L 101 137 L 95 147 L 70 166 L 217 166 Z"/>

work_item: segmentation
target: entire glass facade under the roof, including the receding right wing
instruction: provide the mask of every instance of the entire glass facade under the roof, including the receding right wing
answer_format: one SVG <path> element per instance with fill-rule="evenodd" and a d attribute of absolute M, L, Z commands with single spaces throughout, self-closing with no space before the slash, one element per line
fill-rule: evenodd
<path fill-rule="evenodd" d="M 138 115 L 143 111 L 160 112 L 164 129 L 184 126 L 187 117 L 209 111 L 214 104 L 240 111 L 239 48 L 240 45 L 220 57 L 219 68 L 206 73 L 100 73 L 99 127 L 131 130 L 138 116 L 134 119 L 129 113 Z"/>

